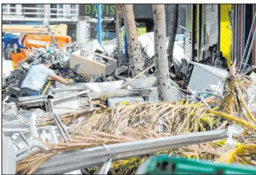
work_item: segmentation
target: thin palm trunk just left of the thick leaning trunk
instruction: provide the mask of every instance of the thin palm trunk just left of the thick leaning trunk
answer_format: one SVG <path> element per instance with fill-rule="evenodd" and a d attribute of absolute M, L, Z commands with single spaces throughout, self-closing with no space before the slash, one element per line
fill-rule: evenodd
<path fill-rule="evenodd" d="M 122 41 L 122 10 L 120 4 L 115 5 L 116 20 L 115 20 L 115 32 L 116 32 L 116 44 L 117 44 L 117 67 L 123 65 L 123 41 Z"/>

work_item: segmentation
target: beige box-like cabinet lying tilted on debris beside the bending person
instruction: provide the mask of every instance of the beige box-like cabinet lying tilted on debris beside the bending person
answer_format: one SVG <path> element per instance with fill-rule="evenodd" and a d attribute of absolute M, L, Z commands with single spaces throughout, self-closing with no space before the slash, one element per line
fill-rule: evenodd
<path fill-rule="evenodd" d="M 89 59 L 86 57 L 86 54 L 93 54 L 94 58 Z M 99 61 L 96 61 L 97 57 L 99 57 Z M 103 63 L 103 60 L 106 60 L 104 61 L 105 64 Z M 81 48 L 71 54 L 70 67 L 74 67 L 75 64 L 80 64 L 78 74 L 88 74 L 99 77 L 111 74 L 117 68 L 117 61 L 115 59 L 96 52 L 88 51 L 85 48 Z"/>

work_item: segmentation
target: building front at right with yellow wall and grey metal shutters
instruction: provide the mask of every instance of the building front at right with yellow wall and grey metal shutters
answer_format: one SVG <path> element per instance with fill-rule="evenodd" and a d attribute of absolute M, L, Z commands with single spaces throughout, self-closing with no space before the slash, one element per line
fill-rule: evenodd
<path fill-rule="evenodd" d="M 256 4 L 187 4 L 185 58 L 199 62 L 213 58 L 217 51 L 222 51 L 228 66 L 235 59 L 239 64 L 255 12 Z M 253 28 L 255 30 L 256 25 Z M 248 66 L 255 64 L 254 43 Z"/>

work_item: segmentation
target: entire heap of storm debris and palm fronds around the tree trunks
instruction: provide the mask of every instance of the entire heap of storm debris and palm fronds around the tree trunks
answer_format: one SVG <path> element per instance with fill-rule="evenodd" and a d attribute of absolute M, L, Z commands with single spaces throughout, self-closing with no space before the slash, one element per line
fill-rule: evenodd
<path fill-rule="evenodd" d="M 172 101 L 162 103 L 152 33 L 139 40 L 146 65 L 141 77 L 131 77 L 129 65 L 117 67 L 115 46 L 96 40 L 79 49 L 70 44 L 67 51 L 31 49 L 3 83 L 3 135 L 9 137 L 4 152 L 16 165 L 9 172 L 134 174 L 147 154 L 161 153 L 256 166 L 254 69 L 237 74 L 235 67 L 228 72 L 176 53 Z M 75 84 L 47 81 L 46 94 L 19 98 L 29 67 L 46 57 L 54 72 Z"/>

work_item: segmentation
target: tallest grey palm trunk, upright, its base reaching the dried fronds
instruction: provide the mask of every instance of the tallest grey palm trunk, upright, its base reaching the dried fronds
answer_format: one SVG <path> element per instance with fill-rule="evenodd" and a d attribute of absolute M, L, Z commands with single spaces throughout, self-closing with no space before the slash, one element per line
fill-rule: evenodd
<path fill-rule="evenodd" d="M 159 101 L 170 101 L 170 79 L 166 51 L 165 5 L 153 4 L 154 58 L 156 60 L 157 92 Z"/>

